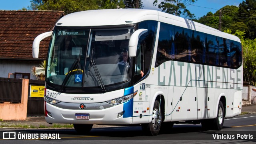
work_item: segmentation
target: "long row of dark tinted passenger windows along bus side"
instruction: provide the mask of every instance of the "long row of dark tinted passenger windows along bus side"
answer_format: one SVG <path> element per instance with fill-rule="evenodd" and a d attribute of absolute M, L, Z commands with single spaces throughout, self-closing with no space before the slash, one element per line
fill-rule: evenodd
<path fill-rule="evenodd" d="M 242 47 L 233 40 L 161 23 L 155 67 L 168 60 L 238 68 Z"/>

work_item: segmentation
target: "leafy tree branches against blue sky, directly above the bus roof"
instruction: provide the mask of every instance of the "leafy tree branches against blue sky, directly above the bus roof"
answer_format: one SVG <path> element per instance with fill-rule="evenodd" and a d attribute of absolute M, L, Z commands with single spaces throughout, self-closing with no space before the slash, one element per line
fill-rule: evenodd
<path fill-rule="evenodd" d="M 162 9 L 162 12 L 166 12 L 169 14 L 174 14 L 176 16 L 184 16 L 186 18 L 193 19 L 195 15 L 192 14 L 186 6 L 189 4 L 193 4 L 195 0 L 164 0 L 165 2 L 161 2 L 158 4 L 158 8 Z M 154 6 L 156 6 L 158 0 L 154 1 Z"/>

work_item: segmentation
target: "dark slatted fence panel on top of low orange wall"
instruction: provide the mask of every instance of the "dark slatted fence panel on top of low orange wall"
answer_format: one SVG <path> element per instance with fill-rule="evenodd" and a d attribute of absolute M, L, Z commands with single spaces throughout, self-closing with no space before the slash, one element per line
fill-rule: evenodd
<path fill-rule="evenodd" d="M 0 78 L 0 102 L 21 103 L 22 79 Z"/>

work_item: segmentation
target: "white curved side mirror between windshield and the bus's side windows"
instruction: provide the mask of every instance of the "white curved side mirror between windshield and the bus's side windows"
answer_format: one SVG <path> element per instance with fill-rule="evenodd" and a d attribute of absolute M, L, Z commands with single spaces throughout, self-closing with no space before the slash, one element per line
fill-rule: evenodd
<path fill-rule="evenodd" d="M 131 38 L 130 38 L 130 40 L 129 40 L 129 49 L 128 49 L 128 51 L 129 51 L 129 57 L 134 57 L 134 56 L 136 56 L 138 40 L 139 40 L 140 36 L 141 36 L 142 34 L 144 34 L 145 32 L 148 32 L 148 30 L 142 28 L 142 29 L 136 30 L 136 31 L 132 34 L 132 36 L 131 36 Z"/>

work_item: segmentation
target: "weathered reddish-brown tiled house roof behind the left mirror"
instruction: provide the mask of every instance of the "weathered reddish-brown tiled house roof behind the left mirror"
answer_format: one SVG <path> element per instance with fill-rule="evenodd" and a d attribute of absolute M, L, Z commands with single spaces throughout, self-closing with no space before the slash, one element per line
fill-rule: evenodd
<path fill-rule="evenodd" d="M 61 11 L 0 10 L 0 58 L 33 59 L 34 38 L 52 30 L 62 16 Z M 40 43 L 39 59 L 46 59 L 49 42 Z"/>

